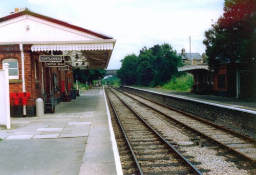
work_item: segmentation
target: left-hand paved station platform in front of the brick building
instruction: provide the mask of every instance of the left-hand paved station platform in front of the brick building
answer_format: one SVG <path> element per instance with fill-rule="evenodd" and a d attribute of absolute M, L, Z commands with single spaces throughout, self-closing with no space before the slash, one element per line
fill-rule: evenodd
<path fill-rule="evenodd" d="M 102 87 L 0 127 L 0 174 L 122 174 Z"/>

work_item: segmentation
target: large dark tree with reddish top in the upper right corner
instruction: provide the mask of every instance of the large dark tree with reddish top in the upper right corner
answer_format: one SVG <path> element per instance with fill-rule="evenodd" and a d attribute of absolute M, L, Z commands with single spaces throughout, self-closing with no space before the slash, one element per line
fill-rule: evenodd
<path fill-rule="evenodd" d="M 221 63 L 255 64 L 256 1 L 225 0 L 224 14 L 205 32 L 208 64 L 217 70 Z"/>

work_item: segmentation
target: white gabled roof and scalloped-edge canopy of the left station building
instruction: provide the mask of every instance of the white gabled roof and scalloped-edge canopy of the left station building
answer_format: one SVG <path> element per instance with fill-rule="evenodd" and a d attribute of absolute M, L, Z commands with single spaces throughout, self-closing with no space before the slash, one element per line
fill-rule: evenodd
<path fill-rule="evenodd" d="M 107 68 L 116 40 L 24 9 L 0 18 L 0 45 L 29 44 L 32 52 L 61 52 L 81 69 Z"/>

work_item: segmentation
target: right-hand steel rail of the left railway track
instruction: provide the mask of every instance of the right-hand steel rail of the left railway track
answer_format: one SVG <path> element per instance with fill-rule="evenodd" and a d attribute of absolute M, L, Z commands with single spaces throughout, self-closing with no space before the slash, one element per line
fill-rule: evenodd
<path fill-rule="evenodd" d="M 111 89 L 110 89 L 111 90 Z M 112 90 L 111 90 L 112 91 Z M 112 91 L 113 92 L 113 91 Z M 113 92 L 113 94 L 116 95 L 116 93 Z M 169 146 L 174 151 L 174 154 L 179 157 L 180 160 L 182 160 L 183 163 L 185 163 L 188 167 L 190 167 L 190 170 L 193 171 L 195 174 L 202 174 L 197 167 L 195 167 L 189 160 L 187 160 L 173 145 L 171 145 L 167 140 L 165 140 L 155 129 L 153 129 L 150 124 L 148 124 L 144 119 L 142 119 L 139 114 L 134 111 L 129 105 L 127 105 L 119 96 L 116 95 L 120 99 L 120 101 L 127 107 L 129 108 L 137 117 L 140 119 L 147 128 L 151 129 L 166 145 Z"/>

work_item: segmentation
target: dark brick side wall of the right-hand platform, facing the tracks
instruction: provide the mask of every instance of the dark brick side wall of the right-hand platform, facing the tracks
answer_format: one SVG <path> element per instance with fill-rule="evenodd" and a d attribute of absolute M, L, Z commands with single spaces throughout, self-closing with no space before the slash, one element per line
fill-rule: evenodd
<path fill-rule="evenodd" d="M 170 97 L 153 92 L 146 92 L 129 87 L 122 86 L 121 89 L 142 95 L 148 99 L 153 99 L 155 102 L 166 106 L 173 106 L 183 110 L 186 109 L 187 112 L 211 120 L 216 124 L 220 124 L 245 135 L 255 137 L 256 115 L 254 114 L 193 102 L 178 97 Z"/>

